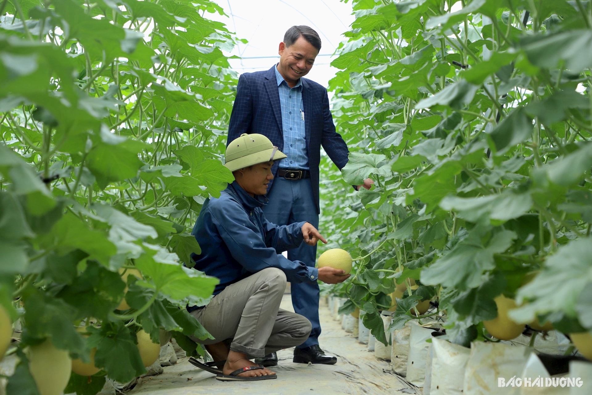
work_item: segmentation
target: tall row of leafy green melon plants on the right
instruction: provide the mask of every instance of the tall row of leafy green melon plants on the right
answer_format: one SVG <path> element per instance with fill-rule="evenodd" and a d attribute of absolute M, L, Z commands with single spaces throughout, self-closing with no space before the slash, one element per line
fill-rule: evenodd
<path fill-rule="evenodd" d="M 384 342 L 392 278 L 412 278 L 387 330 L 446 311 L 448 339 L 484 340 L 500 294 L 509 325 L 592 329 L 589 2 L 352 4 L 329 86 L 349 163 L 321 163 L 320 229 L 326 248 L 382 247 L 332 288 L 344 307 Z"/>

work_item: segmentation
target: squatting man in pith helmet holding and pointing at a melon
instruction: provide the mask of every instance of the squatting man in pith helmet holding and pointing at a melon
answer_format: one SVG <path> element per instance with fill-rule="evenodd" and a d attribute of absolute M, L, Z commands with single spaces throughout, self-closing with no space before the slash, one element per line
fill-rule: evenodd
<path fill-rule="evenodd" d="M 327 242 L 308 222 L 277 226 L 265 219 L 262 207 L 274 178 L 271 167 L 284 158 L 262 134 L 245 133 L 233 140 L 225 159 L 234 181 L 219 198 L 205 201 L 192 231 L 201 246 L 201 253 L 193 255 L 195 269 L 219 278 L 220 284 L 207 306 L 188 307 L 214 337 L 193 338 L 214 361 L 190 362 L 217 374 L 218 380 L 276 378 L 249 359 L 306 341 L 311 323 L 279 308 L 287 281 L 337 284 L 349 277 L 340 269 L 317 269 L 281 255 L 303 242 Z"/>

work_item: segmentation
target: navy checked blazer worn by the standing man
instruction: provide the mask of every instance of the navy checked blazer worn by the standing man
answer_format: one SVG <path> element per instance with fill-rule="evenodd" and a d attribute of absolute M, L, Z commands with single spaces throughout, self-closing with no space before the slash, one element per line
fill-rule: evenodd
<path fill-rule="evenodd" d="M 239 77 L 226 146 L 243 133 L 260 133 L 267 136 L 279 150 L 284 149 L 282 112 L 274 68 L 275 65 L 269 70 L 243 73 Z M 340 170 L 348 163 L 349 152 L 347 144 L 335 131 L 333 117 L 329 110 L 327 89 L 307 78 L 302 78 L 302 84 L 308 165 L 314 201 L 317 205 L 317 213 L 320 213 L 318 165 L 321 145 Z M 275 162 L 272 168 L 274 176 L 278 172 L 278 163 Z M 272 185 L 273 180 L 269 182 L 268 191 Z"/>

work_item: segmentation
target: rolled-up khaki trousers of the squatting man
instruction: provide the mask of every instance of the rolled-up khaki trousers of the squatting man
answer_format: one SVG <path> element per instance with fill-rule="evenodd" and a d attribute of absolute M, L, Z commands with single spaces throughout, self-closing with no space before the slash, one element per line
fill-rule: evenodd
<path fill-rule="evenodd" d="M 279 309 L 286 287 L 281 269 L 267 268 L 236 282 L 191 314 L 214 339 L 201 344 L 231 341 L 232 351 L 260 358 L 280 349 L 301 345 L 311 330 L 300 314 Z"/>

